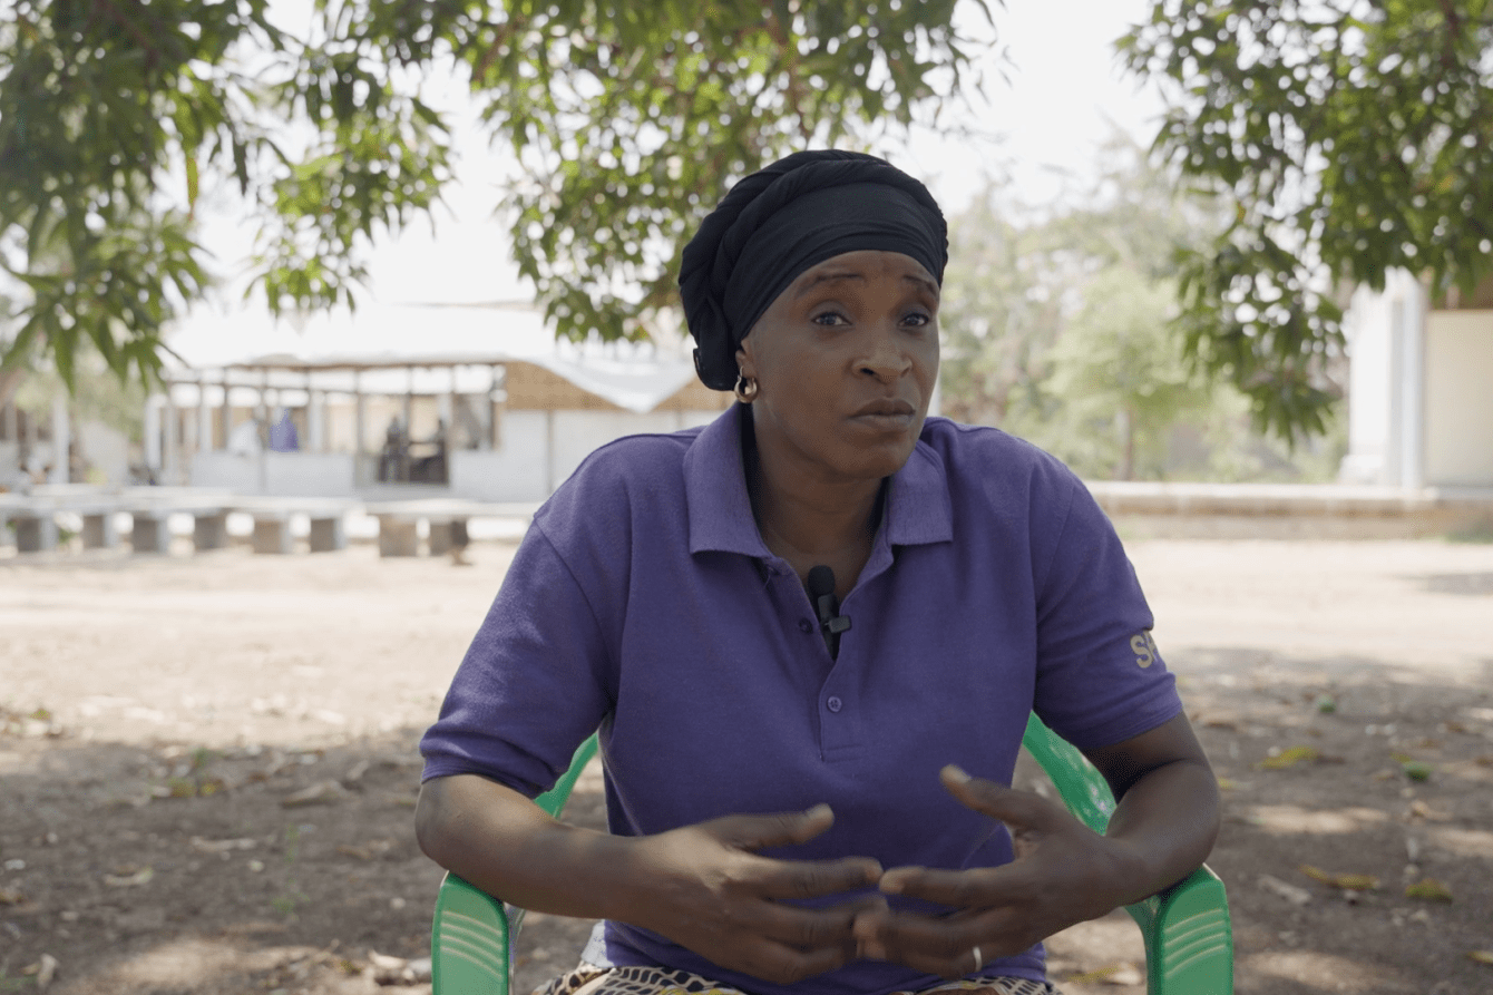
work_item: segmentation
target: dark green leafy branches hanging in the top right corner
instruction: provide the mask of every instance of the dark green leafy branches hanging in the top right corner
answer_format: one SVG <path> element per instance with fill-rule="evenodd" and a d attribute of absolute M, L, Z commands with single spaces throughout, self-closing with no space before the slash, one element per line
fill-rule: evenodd
<path fill-rule="evenodd" d="M 1489 0 L 1157 0 L 1121 52 L 1168 94 L 1157 152 L 1232 202 L 1179 257 L 1181 329 L 1260 426 L 1323 430 L 1347 288 L 1493 272 Z"/>

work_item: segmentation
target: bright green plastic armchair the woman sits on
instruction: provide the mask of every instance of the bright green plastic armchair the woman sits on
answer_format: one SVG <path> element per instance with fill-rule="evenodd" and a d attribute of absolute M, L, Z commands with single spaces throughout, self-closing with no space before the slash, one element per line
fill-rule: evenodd
<path fill-rule="evenodd" d="M 1053 778 L 1063 802 L 1103 832 L 1114 796 L 1099 771 L 1032 716 L 1021 744 Z M 534 801 L 551 816 L 564 808 L 581 768 L 596 756 L 596 737 L 581 744 L 566 775 Z M 1223 881 L 1206 867 L 1176 886 L 1126 907 L 1145 940 L 1150 995 L 1232 995 L 1233 932 Z M 433 995 L 508 995 L 512 943 L 524 910 L 446 874 L 430 935 Z"/>

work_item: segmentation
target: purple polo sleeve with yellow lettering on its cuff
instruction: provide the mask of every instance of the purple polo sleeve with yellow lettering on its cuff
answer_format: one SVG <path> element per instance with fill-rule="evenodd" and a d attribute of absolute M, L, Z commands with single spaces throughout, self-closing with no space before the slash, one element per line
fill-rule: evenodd
<path fill-rule="evenodd" d="M 1135 568 L 1078 478 L 1066 508 L 1045 569 L 1036 565 L 1033 708 L 1073 746 L 1096 748 L 1148 732 L 1182 705 Z"/>

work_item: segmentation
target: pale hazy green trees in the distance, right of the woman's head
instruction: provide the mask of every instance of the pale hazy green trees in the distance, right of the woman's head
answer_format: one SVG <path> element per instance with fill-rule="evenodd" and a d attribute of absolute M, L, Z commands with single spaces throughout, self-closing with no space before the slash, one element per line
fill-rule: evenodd
<path fill-rule="evenodd" d="M 1330 478 L 1335 435 L 1291 453 L 1251 433 L 1248 399 L 1185 359 L 1175 258 L 1226 229 L 1220 203 L 1178 191 L 1124 136 L 1099 161 L 1053 208 L 993 181 L 950 218 L 944 411 L 1093 478 Z"/>

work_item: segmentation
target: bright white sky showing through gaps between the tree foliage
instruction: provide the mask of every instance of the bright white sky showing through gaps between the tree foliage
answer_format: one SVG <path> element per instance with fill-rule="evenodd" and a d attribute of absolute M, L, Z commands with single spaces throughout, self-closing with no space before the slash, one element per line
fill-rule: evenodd
<path fill-rule="evenodd" d="M 1121 78 L 1112 49 L 1114 39 L 1148 15 L 1150 0 L 1006 0 L 1003 9 L 991 0 L 991 7 L 999 45 L 1009 55 L 1009 81 L 987 73 L 987 102 L 976 105 L 978 120 L 970 124 L 1003 134 L 1003 140 L 956 142 L 927 134 L 908 148 L 884 149 L 930 184 L 947 214 L 969 203 L 996 163 L 1006 163 L 1024 202 L 1051 202 L 1062 193 L 1060 175 L 1081 179 L 1093 172 L 1111 121 L 1150 142 L 1160 111 L 1153 93 Z M 503 226 L 491 217 L 499 175 L 502 161 L 487 152 L 485 142 L 467 143 L 458 163 L 461 182 L 448 191 L 448 209 L 437 214 L 434 236 L 421 221 L 379 245 L 364 299 L 455 303 L 527 297 L 508 258 Z M 224 235 L 212 244 L 227 261 L 233 257 L 228 247 L 242 236 Z"/>

